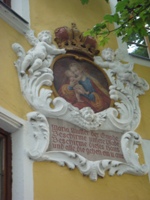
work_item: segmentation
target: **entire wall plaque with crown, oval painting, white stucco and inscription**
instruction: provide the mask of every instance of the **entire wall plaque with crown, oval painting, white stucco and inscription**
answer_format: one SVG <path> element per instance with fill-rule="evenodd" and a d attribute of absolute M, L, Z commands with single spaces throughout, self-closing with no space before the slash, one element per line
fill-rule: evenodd
<path fill-rule="evenodd" d="M 141 119 L 138 96 L 148 83 L 104 49 L 72 27 L 49 31 L 38 38 L 26 35 L 32 48 L 26 53 L 13 44 L 21 91 L 35 112 L 27 114 L 28 156 L 36 161 L 67 165 L 97 180 L 108 171 L 144 175 L 138 161 L 141 137 L 134 130 Z"/>

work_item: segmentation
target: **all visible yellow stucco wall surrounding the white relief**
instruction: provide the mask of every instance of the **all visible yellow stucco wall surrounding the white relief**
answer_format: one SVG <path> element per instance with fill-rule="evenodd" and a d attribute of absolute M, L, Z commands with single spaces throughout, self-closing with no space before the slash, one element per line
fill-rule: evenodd
<path fill-rule="evenodd" d="M 77 24 L 79 30 L 84 31 L 99 22 L 104 13 L 109 12 L 105 1 L 90 0 L 82 6 L 80 0 L 30 0 L 31 28 L 35 33 L 41 30 L 53 31 L 60 26 Z M 26 50 L 30 48 L 24 36 L 0 20 L 0 106 L 26 119 L 26 114 L 32 111 L 24 100 L 13 62 L 17 56 L 12 51 L 14 42 L 20 43 Z M 117 48 L 113 36 L 107 45 Z M 135 65 L 134 71 L 150 83 L 150 68 Z M 144 139 L 150 139 L 150 91 L 140 98 L 142 119 L 137 132 Z M 148 176 L 123 175 L 121 177 L 99 178 L 92 182 L 82 176 L 77 169 L 69 170 L 55 163 L 34 163 L 34 199 L 35 200 L 150 200 L 150 184 Z"/>

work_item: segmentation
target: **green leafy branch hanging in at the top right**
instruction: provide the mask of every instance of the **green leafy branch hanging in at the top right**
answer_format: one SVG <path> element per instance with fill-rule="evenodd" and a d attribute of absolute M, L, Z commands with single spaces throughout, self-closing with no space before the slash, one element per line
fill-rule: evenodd
<path fill-rule="evenodd" d="M 108 0 L 105 0 L 108 2 Z M 81 0 L 82 4 L 89 0 Z M 109 25 L 116 23 L 117 28 L 110 30 Z M 107 14 L 103 21 L 96 24 L 85 35 L 97 37 L 100 45 L 108 42 L 111 33 L 122 37 L 123 42 L 129 41 L 132 34 L 138 34 L 140 38 L 150 32 L 150 0 L 118 0 L 114 14 Z"/>

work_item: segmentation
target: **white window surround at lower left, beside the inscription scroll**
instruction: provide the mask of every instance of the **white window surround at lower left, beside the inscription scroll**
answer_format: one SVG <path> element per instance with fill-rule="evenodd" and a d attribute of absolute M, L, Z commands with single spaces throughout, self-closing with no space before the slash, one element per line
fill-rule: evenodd
<path fill-rule="evenodd" d="M 12 200 L 33 200 L 33 161 L 27 156 L 27 122 L 0 107 L 0 127 L 12 138 Z"/>

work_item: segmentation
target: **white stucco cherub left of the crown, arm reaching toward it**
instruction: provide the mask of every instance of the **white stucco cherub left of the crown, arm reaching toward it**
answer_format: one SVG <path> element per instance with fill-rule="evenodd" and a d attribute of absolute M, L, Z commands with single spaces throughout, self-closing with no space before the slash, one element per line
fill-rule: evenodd
<path fill-rule="evenodd" d="M 29 68 L 29 74 L 44 66 L 46 60 L 53 55 L 64 54 L 64 49 L 56 49 L 52 45 L 52 37 L 49 31 L 45 30 L 38 34 L 38 41 L 35 46 L 29 50 L 22 62 L 20 74 L 23 76 Z M 52 56 L 52 57 L 53 57 Z"/>

